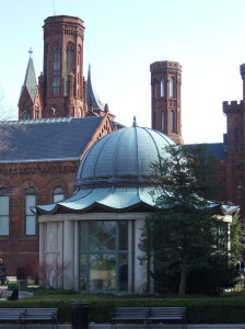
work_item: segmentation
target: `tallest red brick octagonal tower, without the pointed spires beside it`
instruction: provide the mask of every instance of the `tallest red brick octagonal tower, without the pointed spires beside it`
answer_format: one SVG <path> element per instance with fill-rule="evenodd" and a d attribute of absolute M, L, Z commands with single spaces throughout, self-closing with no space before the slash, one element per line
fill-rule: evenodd
<path fill-rule="evenodd" d="M 52 109 L 59 116 L 83 113 L 83 21 L 79 18 L 59 15 L 45 20 L 43 117 L 52 116 Z"/>

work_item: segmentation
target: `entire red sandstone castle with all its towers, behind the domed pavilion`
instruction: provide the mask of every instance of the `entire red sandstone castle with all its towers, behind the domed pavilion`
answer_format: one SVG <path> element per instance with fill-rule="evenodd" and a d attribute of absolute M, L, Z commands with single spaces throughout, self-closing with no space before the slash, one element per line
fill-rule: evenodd
<path fill-rule="evenodd" d="M 88 80 L 83 77 L 83 21 L 78 18 L 45 20 L 44 71 L 38 84 L 31 52 L 19 121 L 0 123 L 1 139 L 8 140 L 0 151 L 0 257 L 8 275 L 38 262 L 38 224 L 30 207 L 71 195 L 88 148 L 116 126 L 120 128 L 95 94 L 91 70 Z M 182 66 L 156 61 L 150 70 L 152 128 L 183 144 Z M 241 72 L 244 79 L 243 66 Z M 224 113 L 225 143 L 210 144 L 209 151 L 226 182 L 223 201 L 238 204 L 244 217 L 244 102 L 224 103 Z"/>

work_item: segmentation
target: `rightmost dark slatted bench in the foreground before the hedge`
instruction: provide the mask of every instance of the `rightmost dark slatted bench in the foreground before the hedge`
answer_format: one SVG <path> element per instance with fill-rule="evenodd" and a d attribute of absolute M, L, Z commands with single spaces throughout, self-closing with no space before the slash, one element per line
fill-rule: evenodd
<path fill-rule="evenodd" d="M 148 326 L 151 329 L 151 324 L 179 321 L 183 328 L 186 328 L 186 308 L 185 307 L 151 307 L 148 317 Z"/>

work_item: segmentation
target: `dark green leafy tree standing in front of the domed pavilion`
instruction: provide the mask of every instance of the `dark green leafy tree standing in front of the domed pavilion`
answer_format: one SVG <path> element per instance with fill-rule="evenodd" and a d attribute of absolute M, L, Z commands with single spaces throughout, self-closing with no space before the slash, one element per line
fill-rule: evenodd
<path fill-rule="evenodd" d="M 153 277 L 178 276 L 178 293 L 185 295 L 188 275 L 228 264 L 228 227 L 218 219 L 219 206 L 208 201 L 220 192 L 214 160 L 205 146 L 191 149 L 170 145 L 152 163 L 156 182 L 152 191 L 158 211 L 145 220 L 140 249 L 142 261 L 154 259 Z"/>

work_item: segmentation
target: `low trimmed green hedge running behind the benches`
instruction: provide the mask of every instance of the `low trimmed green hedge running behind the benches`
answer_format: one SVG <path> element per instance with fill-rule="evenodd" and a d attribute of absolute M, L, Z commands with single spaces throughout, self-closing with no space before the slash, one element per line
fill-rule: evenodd
<path fill-rule="evenodd" d="M 0 302 L 0 307 L 57 307 L 59 321 L 71 321 L 71 303 L 85 302 L 89 305 L 90 321 L 96 324 L 109 322 L 117 306 L 186 306 L 187 324 L 245 324 L 244 298 L 90 298 L 77 299 L 20 299 Z"/>

